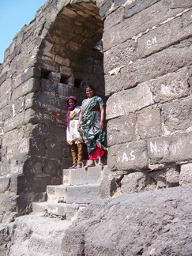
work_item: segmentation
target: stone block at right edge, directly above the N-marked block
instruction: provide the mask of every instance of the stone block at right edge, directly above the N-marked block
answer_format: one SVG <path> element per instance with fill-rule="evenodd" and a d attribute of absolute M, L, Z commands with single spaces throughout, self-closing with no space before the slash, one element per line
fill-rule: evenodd
<path fill-rule="evenodd" d="M 164 124 L 168 132 L 192 127 L 192 99 L 179 100 L 163 105 Z"/>

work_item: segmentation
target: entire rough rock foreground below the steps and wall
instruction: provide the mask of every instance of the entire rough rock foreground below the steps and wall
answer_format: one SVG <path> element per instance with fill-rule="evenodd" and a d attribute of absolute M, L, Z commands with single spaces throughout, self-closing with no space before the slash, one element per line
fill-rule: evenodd
<path fill-rule="evenodd" d="M 71 223 L 28 215 L 1 228 L 1 255 L 192 255 L 192 186 L 98 200 Z"/>

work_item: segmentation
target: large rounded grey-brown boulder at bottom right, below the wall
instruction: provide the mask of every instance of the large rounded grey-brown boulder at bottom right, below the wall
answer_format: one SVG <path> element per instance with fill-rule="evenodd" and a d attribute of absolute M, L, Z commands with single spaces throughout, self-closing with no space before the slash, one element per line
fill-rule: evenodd
<path fill-rule="evenodd" d="M 186 186 L 94 202 L 68 229 L 62 252 L 190 255 L 191 196 L 192 188 Z"/>

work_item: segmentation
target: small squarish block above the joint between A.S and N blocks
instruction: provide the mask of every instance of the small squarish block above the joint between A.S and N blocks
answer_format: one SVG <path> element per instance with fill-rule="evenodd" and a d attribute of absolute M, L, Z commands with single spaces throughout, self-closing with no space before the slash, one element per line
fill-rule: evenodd
<path fill-rule="evenodd" d="M 138 112 L 137 135 L 139 135 L 142 139 L 162 135 L 159 108 L 147 108 Z"/>

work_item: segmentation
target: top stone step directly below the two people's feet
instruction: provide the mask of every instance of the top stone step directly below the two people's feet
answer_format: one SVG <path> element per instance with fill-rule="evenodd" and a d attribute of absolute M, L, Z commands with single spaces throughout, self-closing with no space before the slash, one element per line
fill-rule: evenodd
<path fill-rule="evenodd" d="M 96 166 L 90 168 L 64 169 L 63 185 L 87 185 L 100 184 L 104 177 L 104 167 Z"/>

